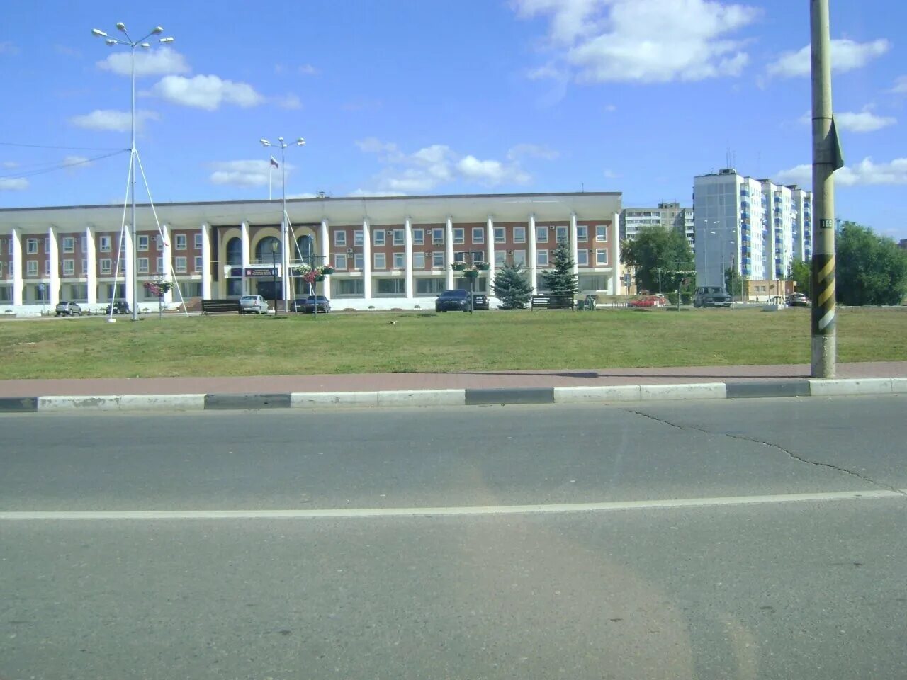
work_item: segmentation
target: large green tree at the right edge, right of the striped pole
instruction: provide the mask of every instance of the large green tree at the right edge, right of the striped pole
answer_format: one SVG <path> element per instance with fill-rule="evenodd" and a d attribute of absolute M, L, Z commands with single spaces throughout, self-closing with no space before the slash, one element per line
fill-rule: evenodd
<path fill-rule="evenodd" d="M 907 293 L 907 252 L 869 227 L 844 222 L 835 250 L 837 300 L 843 305 L 900 305 Z"/>

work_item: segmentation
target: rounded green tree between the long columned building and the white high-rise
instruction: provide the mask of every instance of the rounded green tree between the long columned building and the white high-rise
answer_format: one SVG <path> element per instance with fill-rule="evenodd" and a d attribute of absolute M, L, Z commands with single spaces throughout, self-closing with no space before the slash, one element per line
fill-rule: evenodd
<path fill-rule="evenodd" d="M 659 273 L 662 290 L 677 290 L 690 277 L 679 272 L 696 268 L 687 239 L 667 227 L 640 229 L 636 238 L 620 244 L 620 261 L 635 270 L 639 290 L 658 290 Z"/>

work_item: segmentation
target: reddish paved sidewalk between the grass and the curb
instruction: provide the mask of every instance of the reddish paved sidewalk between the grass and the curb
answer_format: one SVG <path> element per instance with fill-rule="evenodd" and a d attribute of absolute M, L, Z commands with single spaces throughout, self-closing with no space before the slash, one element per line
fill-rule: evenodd
<path fill-rule="evenodd" d="M 250 377 L 2 380 L 0 399 L 111 394 L 335 393 L 391 390 L 604 387 L 640 384 L 782 383 L 809 377 L 807 364 L 609 368 L 562 371 L 258 375 Z M 838 364 L 839 378 L 904 378 L 907 362 Z"/>

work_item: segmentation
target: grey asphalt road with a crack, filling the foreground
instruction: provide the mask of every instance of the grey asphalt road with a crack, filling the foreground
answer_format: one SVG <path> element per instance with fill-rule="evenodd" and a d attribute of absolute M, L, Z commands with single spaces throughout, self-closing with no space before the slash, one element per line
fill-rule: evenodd
<path fill-rule="evenodd" d="M 0 416 L 0 678 L 904 677 L 904 405 Z"/>

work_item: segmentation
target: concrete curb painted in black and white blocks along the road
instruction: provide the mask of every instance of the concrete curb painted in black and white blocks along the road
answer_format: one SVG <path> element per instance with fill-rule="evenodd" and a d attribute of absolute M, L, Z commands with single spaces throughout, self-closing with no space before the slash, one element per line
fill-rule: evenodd
<path fill-rule="evenodd" d="M 122 394 L 102 396 L 10 397 L 0 413 L 201 411 L 285 408 L 377 408 L 395 406 L 478 406 L 521 403 L 626 403 L 679 399 L 907 394 L 907 378 L 791 380 L 749 383 L 602 385 L 595 387 L 512 387 L 500 389 L 384 390 L 276 394 Z"/>

